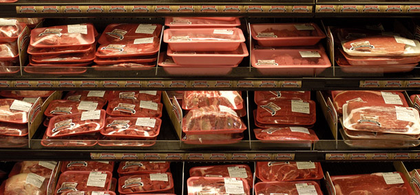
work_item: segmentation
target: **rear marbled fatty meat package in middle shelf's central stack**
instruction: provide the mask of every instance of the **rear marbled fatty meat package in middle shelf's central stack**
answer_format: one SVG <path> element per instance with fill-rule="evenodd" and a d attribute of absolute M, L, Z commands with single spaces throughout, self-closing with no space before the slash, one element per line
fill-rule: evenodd
<path fill-rule="evenodd" d="M 244 106 L 243 103 L 242 96 L 236 91 L 187 91 L 182 99 L 182 109 L 224 105 L 233 110 L 240 110 Z"/>

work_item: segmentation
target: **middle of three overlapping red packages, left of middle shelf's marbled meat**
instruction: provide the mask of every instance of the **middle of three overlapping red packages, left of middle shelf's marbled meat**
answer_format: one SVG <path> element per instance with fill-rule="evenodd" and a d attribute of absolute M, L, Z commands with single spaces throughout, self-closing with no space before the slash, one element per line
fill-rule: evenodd
<path fill-rule="evenodd" d="M 136 99 L 114 99 L 108 103 L 110 116 L 155 117 L 162 116 L 162 103 Z"/>

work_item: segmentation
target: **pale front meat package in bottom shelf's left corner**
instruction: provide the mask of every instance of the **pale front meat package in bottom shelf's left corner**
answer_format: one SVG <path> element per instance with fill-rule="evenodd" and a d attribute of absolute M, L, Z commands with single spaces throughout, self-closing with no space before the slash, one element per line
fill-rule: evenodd
<path fill-rule="evenodd" d="M 4 195 L 47 193 L 48 179 L 33 173 L 17 174 L 6 181 Z"/>

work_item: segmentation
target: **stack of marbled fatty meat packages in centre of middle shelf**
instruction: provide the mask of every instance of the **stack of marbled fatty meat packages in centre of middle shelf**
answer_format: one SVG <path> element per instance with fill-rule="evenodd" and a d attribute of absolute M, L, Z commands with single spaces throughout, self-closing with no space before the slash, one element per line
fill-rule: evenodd
<path fill-rule="evenodd" d="M 244 138 L 246 115 L 237 91 L 187 91 L 182 99 L 182 141 L 189 144 L 229 144 Z"/>

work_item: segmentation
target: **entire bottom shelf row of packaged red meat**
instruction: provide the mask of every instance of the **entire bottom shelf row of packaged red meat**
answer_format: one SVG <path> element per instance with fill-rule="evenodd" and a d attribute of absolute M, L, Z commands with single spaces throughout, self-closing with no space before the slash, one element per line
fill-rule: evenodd
<path fill-rule="evenodd" d="M 0 165 L 0 194 L 4 195 L 402 195 L 419 194 L 420 178 L 420 165 L 410 162 L 22 161 Z"/>

